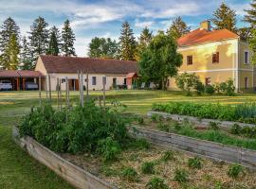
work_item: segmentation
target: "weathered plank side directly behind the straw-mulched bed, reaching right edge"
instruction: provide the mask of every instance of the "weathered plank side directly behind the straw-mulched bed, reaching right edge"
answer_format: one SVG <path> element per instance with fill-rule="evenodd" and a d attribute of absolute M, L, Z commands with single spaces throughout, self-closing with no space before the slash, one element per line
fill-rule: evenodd
<path fill-rule="evenodd" d="M 240 163 L 248 168 L 256 170 L 255 150 L 236 146 L 226 146 L 154 129 L 134 127 L 130 132 L 135 137 L 145 138 L 155 145 L 189 151 L 214 160 Z"/>

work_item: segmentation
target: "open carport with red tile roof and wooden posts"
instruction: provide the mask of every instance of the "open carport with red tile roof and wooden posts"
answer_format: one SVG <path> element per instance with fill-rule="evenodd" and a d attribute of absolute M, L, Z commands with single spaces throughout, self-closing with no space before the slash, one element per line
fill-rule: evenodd
<path fill-rule="evenodd" d="M 12 85 L 12 90 L 20 91 L 26 90 L 26 81 L 36 79 L 36 83 L 39 83 L 39 77 L 44 77 L 38 71 L 31 70 L 2 70 L 0 71 L 0 80 L 9 80 Z M 41 79 L 44 82 L 44 79 Z M 41 83 L 42 85 L 42 83 Z M 43 85 L 42 85 L 43 86 Z"/>

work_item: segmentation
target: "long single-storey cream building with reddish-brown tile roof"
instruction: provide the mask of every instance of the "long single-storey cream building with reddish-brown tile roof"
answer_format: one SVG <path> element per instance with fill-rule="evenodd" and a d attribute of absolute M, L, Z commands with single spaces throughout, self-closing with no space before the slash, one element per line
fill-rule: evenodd
<path fill-rule="evenodd" d="M 50 77 L 50 88 L 56 90 L 57 79 L 61 80 L 61 88 L 65 89 L 65 77 L 68 79 L 70 91 L 79 90 L 78 71 L 82 72 L 83 88 L 86 87 L 86 76 L 88 74 L 88 89 L 102 90 L 103 80 L 106 81 L 105 89 L 110 90 L 115 86 L 126 86 L 127 77 L 137 73 L 137 61 L 132 60 L 103 60 L 79 57 L 40 56 L 37 60 L 35 71 L 45 76 L 42 80 L 42 88 L 49 89 L 48 77 Z M 131 78 L 129 78 L 130 80 Z"/>

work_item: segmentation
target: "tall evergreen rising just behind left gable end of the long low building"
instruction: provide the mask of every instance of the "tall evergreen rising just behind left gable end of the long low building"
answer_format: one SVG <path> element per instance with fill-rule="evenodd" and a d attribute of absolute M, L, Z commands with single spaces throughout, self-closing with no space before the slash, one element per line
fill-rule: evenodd
<path fill-rule="evenodd" d="M 48 44 L 48 24 L 45 18 L 38 17 L 35 19 L 32 26 L 30 26 L 30 48 L 34 56 L 34 60 L 37 59 L 39 55 L 46 54 L 47 44 Z"/>

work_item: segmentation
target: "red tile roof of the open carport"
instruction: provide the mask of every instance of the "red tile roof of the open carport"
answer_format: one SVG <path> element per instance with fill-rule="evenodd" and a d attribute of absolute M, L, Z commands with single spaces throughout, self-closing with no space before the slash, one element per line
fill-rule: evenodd
<path fill-rule="evenodd" d="M 38 71 L 30 70 L 0 70 L 0 77 L 39 77 L 43 76 Z"/>

